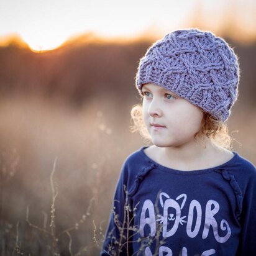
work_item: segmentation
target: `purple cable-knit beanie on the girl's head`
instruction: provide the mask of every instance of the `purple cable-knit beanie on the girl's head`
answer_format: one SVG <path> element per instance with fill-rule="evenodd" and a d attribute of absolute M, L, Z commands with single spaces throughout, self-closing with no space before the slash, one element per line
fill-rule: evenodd
<path fill-rule="evenodd" d="M 176 30 L 140 59 L 136 86 L 154 83 L 225 122 L 238 94 L 239 63 L 224 39 L 198 29 Z"/>

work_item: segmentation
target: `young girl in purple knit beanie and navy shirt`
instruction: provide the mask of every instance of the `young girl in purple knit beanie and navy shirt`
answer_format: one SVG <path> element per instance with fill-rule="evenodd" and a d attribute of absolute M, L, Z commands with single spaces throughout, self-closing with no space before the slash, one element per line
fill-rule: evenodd
<path fill-rule="evenodd" d="M 153 145 L 124 162 L 101 255 L 256 254 L 256 171 L 224 124 L 238 83 L 234 51 L 211 32 L 177 30 L 147 50 L 132 117 Z"/>

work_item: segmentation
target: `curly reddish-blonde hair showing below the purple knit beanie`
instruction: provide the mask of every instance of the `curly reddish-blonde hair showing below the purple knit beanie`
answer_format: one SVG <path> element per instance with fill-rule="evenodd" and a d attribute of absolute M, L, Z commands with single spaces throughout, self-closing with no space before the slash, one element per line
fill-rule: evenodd
<path fill-rule="evenodd" d="M 203 109 L 201 110 L 203 111 Z M 142 104 L 134 105 L 130 111 L 130 115 L 134 122 L 134 125 L 130 126 L 130 132 L 139 132 L 144 139 L 144 142 L 149 144 L 151 142 L 151 138 L 142 117 Z M 226 124 L 222 121 L 217 121 L 211 114 L 203 111 L 201 129 L 194 134 L 194 139 L 196 142 L 205 146 L 203 142 L 203 138 L 205 136 L 211 139 L 213 144 L 219 147 L 223 147 L 227 150 L 233 149 L 232 142 L 234 139 L 229 135 L 229 129 Z"/>

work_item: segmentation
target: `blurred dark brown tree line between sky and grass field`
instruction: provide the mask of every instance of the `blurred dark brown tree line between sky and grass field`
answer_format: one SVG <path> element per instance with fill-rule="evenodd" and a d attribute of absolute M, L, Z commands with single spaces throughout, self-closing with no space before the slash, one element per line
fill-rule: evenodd
<path fill-rule="evenodd" d="M 137 39 L 124 43 L 89 38 L 90 35 L 83 35 L 83 43 L 79 42 L 80 37 L 41 53 L 15 42 L 1 47 L 1 96 L 57 96 L 75 106 L 99 94 L 116 96 L 121 101 L 134 99 L 139 59 L 153 41 Z M 242 45 L 226 40 L 239 55 L 239 100 L 242 104 L 255 106 L 256 42 Z"/>

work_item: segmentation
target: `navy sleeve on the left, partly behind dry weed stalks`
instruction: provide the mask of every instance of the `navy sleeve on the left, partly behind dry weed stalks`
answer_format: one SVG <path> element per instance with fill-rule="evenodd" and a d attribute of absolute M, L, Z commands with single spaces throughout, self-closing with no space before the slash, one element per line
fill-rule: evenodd
<path fill-rule="evenodd" d="M 129 243 L 130 206 L 127 197 L 127 166 L 124 163 L 117 182 L 109 224 L 106 230 L 101 256 L 132 255 Z"/>

